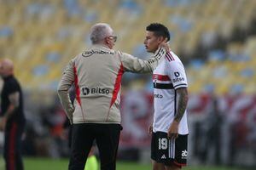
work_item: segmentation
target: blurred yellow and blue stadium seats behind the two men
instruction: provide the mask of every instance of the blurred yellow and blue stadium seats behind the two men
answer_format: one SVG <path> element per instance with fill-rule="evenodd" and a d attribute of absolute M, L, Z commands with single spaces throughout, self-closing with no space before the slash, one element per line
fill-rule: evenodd
<path fill-rule="evenodd" d="M 172 51 L 185 64 L 194 115 L 201 115 L 195 101 L 204 105 L 205 94 L 225 98 L 227 105 L 236 103 L 230 103 L 230 96 L 253 96 L 254 106 L 247 112 L 256 115 L 255 0 L 0 0 L 0 58 L 14 59 L 26 103 L 34 103 L 30 112 L 56 103 L 64 66 L 90 46 L 90 26 L 96 22 L 107 22 L 116 31 L 115 48 L 138 57 L 148 55 L 143 46 L 145 27 L 163 23 L 171 33 Z M 131 79 L 137 82 L 129 83 Z M 123 81 L 124 96 L 132 91 L 130 86 L 152 90 L 147 76 L 128 74 Z M 151 97 L 146 100 L 152 102 Z M 202 120 L 191 119 L 194 124 Z M 256 138 L 249 141 L 256 144 Z M 122 139 L 121 144 L 125 142 Z"/>

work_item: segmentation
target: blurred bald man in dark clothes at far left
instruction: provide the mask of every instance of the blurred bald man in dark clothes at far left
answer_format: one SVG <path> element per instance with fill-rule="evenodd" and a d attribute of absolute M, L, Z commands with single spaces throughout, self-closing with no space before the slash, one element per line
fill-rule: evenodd
<path fill-rule="evenodd" d="M 0 63 L 0 75 L 3 77 L 0 130 L 4 131 L 5 167 L 7 170 L 22 170 L 21 136 L 25 116 L 20 83 L 14 76 L 14 64 L 10 59 L 3 59 Z"/>

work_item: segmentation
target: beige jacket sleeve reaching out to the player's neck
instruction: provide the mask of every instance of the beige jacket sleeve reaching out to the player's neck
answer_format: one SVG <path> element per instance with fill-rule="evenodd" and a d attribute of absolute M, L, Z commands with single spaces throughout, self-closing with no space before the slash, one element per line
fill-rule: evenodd
<path fill-rule="evenodd" d="M 148 73 L 153 72 L 156 66 L 160 63 L 166 54 L 164 48 L 159 48 L 157 52 L 149 59 L 143 60 L 132 56 L 131 54 L 125 54 L 119 52 L 120 60 L 124 66 L 125 71 L 131 71 L 136 73 Z"/>

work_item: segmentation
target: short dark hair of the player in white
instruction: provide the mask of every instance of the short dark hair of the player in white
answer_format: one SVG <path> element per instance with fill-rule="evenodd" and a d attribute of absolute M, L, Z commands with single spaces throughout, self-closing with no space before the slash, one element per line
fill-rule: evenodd
<path fill-rule="evenodd" d="M 154 35 L 157 37 L 166 37 L 167 41 L 170 40 L 170 33 L 168 28 L 160 23 L 152 23 L 147 26 L 146 31 L 153 31 Z"/>

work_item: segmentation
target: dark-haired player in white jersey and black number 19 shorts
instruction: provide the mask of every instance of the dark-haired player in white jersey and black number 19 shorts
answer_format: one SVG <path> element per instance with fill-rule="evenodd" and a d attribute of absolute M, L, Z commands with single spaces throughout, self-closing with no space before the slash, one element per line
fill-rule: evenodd
<path fill-rule="evenodd" d="M 153 23 L 146 28 L 145 47 L 155 53 L 159 44 L 170 40 L 166 26 Z M 181 60 L 172 51 L 153 72 L 154 122 L 151 158 L 154 170 L 176 170 L 186 165 L 188 145 L 188 83 Z"/>

